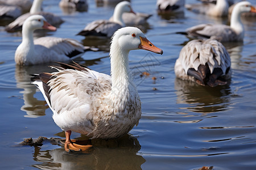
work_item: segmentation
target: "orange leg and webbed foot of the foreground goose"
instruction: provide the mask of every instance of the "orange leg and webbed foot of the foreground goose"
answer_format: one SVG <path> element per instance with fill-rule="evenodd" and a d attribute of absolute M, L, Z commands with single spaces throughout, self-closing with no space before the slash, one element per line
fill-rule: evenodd
<path fill-rule="evenodd" d="M 86 151 L 92 147 L 92 145 L 77 145 L 75 142 L 72 142 L 70 139 L 71 130 L 65 131 L 66 141 L 65 141 L 65 151 Z"/>

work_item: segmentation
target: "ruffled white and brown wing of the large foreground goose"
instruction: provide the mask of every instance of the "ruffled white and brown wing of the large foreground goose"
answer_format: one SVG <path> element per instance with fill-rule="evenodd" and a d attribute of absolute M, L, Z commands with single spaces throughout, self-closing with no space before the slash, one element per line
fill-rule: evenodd
<path fill-rule="evenodd" d="M 60 63 L 60 66 L 53 67 L 58 71 L 33 75 L 31 80 L 34 80 L 33 83 L 38 86 L 54 113 L 88 106 L 103 92 L 108 94 L 111 90 L 108 75 L 95 74 L 96 71 L 77 63 Z"/>

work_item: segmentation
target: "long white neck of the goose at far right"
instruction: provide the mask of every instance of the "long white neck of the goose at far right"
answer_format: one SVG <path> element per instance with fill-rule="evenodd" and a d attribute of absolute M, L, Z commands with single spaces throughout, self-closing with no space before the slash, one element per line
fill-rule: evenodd
<path fill-rule="evenodd" d="M 243 37 L 245 28 L 243 27 L 243 24 L 241 22 L 241 13 L 242 12 L 240 11 L 240 9 L 235 6 L 231 14 L 230 27 L 234 29 L 237 34 L 241 34 L 241 36 Z"/>

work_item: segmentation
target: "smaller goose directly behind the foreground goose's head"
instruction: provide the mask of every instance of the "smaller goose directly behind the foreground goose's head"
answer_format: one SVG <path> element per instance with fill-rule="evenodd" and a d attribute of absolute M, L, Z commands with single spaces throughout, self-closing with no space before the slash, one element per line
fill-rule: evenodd
<path fill-rule="evenodd" d="M 115 6 L 113 20 L 95 20 L 86 25 L 86 27 L 77 33 L 81 36 L 111 37 L 117 29 L 125 27 L 122 20 L 124 12 L 135 12 L 131 9 L 131 3 L 127 1 L 119 2 Z"/>

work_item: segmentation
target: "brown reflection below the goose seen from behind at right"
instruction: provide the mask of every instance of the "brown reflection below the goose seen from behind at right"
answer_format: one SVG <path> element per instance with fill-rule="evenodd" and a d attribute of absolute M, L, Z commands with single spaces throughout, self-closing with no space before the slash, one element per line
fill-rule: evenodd
<path fill-rule="evenodd" d="M 176 78 L 174 88 L 177 103 L 188 104 L 188 107 L 183 109 L 199 113 L 212 113 L 225 111 L 229 105 L 228 96 L 231 92 L 228 84 L 212 88 Z"/>

